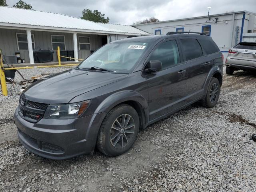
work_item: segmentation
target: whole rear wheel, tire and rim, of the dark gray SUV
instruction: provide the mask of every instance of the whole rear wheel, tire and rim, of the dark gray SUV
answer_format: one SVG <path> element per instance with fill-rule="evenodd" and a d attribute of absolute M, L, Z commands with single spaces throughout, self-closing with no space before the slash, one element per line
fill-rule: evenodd
<path fill-rule="evenodd" d="M 220 82 L 217 78 L 213 77 L 207 89 L 206 97 L 204 98 L 204 106 L 208 108 L 214 107 L 220 96 Z"/>

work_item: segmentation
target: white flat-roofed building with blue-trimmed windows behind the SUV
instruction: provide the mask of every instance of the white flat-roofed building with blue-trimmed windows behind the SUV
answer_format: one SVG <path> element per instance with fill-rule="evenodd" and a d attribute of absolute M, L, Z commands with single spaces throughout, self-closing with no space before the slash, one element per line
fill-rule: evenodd
<path fill-rule="evenodd" d="M 226 12 L 194 18 L 168 20 L 134 27 L 150 34 L 166 34 L 175 31 L 204 32 L 212 37 L 224 57 L 228 50 L 243 41 L 243 36 L 256 32 L 256 14 L 248 11 Z M 255 36 L 255 34 L 254 34 Z"/>

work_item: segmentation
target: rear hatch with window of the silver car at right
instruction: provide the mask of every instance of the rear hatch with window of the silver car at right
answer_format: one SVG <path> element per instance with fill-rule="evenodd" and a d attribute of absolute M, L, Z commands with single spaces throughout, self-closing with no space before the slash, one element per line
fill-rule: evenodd
<path fill-rule="evenodd" d="M 239 43 L 238 45 L 234 46 L 234 48 L 232 48 L 232 51 L 230 51 L 230 58 L 247 61 L 256 61 L 256 43 Z"/>

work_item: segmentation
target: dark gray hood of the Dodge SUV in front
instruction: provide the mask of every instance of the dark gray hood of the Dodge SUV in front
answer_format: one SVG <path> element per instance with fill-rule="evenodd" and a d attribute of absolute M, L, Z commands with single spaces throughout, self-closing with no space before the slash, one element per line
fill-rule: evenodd
<path fill-rule="evenodd" d="M 128 74 L 68 70 L 38 80 L 24 90 L 27 100 L 46 103 L 68 103 L 72 98 L 126 78 Z"/>

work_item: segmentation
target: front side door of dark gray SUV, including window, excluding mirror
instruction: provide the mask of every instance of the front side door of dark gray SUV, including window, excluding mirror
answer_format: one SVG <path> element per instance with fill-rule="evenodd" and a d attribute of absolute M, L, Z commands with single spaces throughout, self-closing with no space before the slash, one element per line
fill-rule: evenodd
<path fill-rule="evenodd" d="M 162 70 L 146 74 L 150 120 L 154 120 L 184 105 L 187 72 L 175 39 L 160 42 L 150 60 L 162 62 Z"/>

